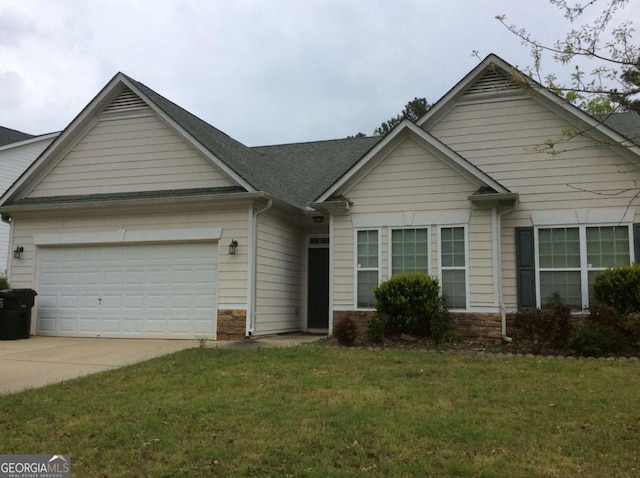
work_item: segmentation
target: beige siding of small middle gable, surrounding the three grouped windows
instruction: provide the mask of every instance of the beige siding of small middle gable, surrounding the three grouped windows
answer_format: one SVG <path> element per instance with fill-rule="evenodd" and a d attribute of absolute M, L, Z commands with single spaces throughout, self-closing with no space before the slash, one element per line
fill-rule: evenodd
<path fill-rule="evenodd" d="M 334 218 L 333 298 L 336 310 L 354 305 L 354 226 L 359 214 L 406 212 L 468 211 L 468 196 L 478 189 L 451 167 L 433 156 L 411 139 L 405 140 L 366 177 L 345 193 L 353 202 L 349 216 Z M 454 224 L 454 226 L 464 224 Z M 430 273 L 438 271 L 438 224 L 406 225 L 408 228 L 429 227 L 431 249 Z M 375 229 L 375 228 L 374 228 Z M 389 234 L 392 228 L 380 229 L 380 279 L 390 276 Z M 490 210 L 471 211 L 469 231 L 469 308 L 493 306 L 494 270 L 492 219 Z"/>

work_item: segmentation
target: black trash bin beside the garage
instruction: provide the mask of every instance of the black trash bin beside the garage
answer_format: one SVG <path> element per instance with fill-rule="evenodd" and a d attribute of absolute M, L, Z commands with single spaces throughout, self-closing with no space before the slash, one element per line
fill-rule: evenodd
<path fill-rule="evenodd" d="M 0 290 L 0 340 L 31 336 L 31 309 L 36 295 L 33 289 Z"/>

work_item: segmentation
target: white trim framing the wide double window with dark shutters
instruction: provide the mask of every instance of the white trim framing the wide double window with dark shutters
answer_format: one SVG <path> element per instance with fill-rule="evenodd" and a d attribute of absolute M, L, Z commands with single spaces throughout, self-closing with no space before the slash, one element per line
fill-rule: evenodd
<path fill-rule="evenodd" d="M 540 229 L 578 229 L 578 239 L 580 242 L 580 267 L 567 267 L 563 269 L 557 269 L 561 271 L 575 271 L 580 272 L 580 293 L 582 298 L 582 310 L 586 310 L 589 308 L 589 272 L 592 271 L 600 271 L 605 270 L 606 267 L 589 267 L 587 262 L 587 228 L 590 227 L 626 227 L 629 231 L 629 264 L 633 263 L 633 223 L 625 222 L 625 223 L 598 223 L 598 224 L 563 224 L 563 225 L 553 225 L 553 226 L 535 226 L 534 227 L 534 250 L 535 250 L 535 270 L 536 270 L 536 305 L 537 307 L 542 307 L 544 304 L 542 303 L 542 297 L 540 294 L 540 273 L 553 271 L 554 269 L 544 268 L 542 270 L 540 268 L 540 250 L 539 243 L 540 240 L 538 238 L 538 233 Z"/>

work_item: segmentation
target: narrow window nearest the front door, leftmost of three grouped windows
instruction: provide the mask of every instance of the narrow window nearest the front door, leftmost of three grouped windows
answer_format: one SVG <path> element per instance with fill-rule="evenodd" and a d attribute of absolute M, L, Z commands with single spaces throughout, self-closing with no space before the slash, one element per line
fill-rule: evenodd
<path fill-rule="evenodd" d="M 380 247 L 378 230 L 356 231 L 357 302 L 359 309 L 374 307 L 374 290 L 379 283 Z"/>

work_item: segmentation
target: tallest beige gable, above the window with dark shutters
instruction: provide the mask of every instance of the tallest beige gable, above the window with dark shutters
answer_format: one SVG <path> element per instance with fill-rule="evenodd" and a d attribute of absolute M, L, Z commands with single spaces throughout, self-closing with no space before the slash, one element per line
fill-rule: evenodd
<path fill-rule="evenodd" d="M 624 203 L 640 180 L 636 146 L 494 55 L 417 124 L 519 193 L 520 209 Z M 569 130 L 584 134 L 545 150 Z"/>

